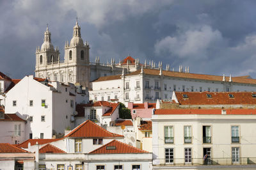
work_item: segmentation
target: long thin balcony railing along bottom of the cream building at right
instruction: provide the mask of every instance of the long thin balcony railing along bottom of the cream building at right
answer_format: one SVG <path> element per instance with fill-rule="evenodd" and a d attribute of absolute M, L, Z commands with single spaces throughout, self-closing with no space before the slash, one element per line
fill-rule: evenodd
<path fill-rule="evenodd" d="M 192 156 L 192 155 L 191 155 Z M 187 161 L 187 162 L 186 162 Z M 190 162 L 191 161 L 191 162 Z M 231 167 L 222 167 L 221 169 L 232 169 L 234 165 L 255 165 L 256 167 L 256 157 L 246 157 L 246 158 L 158 158 L 153 160 L 154 165 L 158 166 L 218 166 L 216 169 L 220 168 L 219 166 L 231 166 Z M 214 167 L 212 167 L 214 169 Z M 206 168 L 205 168 L 206 169 Z M 234 168 L 235 169 L 235 168 Z M 246 167 L 244 168 L 246 169 Z"/>

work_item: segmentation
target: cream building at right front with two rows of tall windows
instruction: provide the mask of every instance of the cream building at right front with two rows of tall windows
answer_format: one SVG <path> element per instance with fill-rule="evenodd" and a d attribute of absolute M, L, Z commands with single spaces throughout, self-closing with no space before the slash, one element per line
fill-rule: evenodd
<path fill-rule="evenodd" d="M 252 164 L 255 123 L 255 109 L 156 109 L 152 115 L 154 164 L 163 169 Z"/>

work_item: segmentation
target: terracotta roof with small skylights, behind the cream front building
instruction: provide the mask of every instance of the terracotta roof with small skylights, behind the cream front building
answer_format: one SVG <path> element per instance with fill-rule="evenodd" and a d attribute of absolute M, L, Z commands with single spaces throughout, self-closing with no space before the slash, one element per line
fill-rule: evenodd
<path fill-rule="evenodd" d="M 211 98 L 207 98 L 207 94 Z M 234 95 L 230 98 L 229 94 Z M 246 105 L 256 104 L 256 92 L 179 92 L 175 91 L 175 95 L 180 105 Z M 188 98 L 183 98 L 188 95 Z"/>

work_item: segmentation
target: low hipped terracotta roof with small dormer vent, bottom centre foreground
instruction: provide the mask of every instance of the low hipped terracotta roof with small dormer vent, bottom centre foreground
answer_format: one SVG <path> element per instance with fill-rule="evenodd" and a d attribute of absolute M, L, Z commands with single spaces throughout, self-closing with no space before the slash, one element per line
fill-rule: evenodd
<path fill-rule="evenodd" d="M 104 144 L 100 148 L 90 152 L 91 154 L 108 154 L 108 153 L 148 153 L 148 151 L 135 148 L 129 144 L 121 143 L 113 140 L 110 143 Z"/>

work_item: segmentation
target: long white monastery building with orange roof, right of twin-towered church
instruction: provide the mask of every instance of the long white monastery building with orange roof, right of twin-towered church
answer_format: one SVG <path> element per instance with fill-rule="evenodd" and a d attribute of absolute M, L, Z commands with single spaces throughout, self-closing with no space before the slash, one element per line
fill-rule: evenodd
<path fill-rule="evenodd" d="M 172 99 L 173 91 L 256 91 L 256 79 L 142 68 L 92 81 L 90 100 L 143 103 Z"/>

